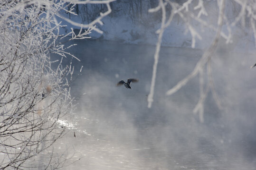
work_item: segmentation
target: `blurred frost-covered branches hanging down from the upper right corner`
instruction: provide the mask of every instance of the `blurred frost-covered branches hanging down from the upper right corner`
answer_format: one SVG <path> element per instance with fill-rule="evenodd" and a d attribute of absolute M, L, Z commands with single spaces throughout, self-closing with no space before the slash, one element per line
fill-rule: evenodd
<path fill-rule="evenodd" d="M 195 27 L 194 24 L 192 24 L 191 21 L 195 21 L 197 22 L 199 25 L 201 25 L 201 27 L 206 27 L 212 31 L 215 31 L 216 34 L 214 36 L 214 39 L 212 41 L 212 43 L 210 44 L 208 50 L 206 50 L 201 59 L 199 59 L 198 63 L 196 64 L 195 68 L 191 71 L 191 73 L 186 76 L 185 78 L 183 78 L 182 80 L 180 80 L 180 82 L 177 83 L 177 85 L 175 85 L 174 87 L 172 87 L 170 90 L 168 90 L 166 92 L 167 95 L 171 95 L 175 92 L 177 92 L 181 87 L 183 87 L 184 85 L 186 85 L 190 79 L 192 79 L 193 77 L 197 76 L 199 74 L 199 84 L 200 84 L 200 97 L 199 97 L 199 102 L 196 105 L 194 112 L 199 112 L 199 117 L 200 117 L 200 121 L 203 122 L 203 103 L 204 100 L 207 96 L 207 94 L 209 93 L 209 91 L 212 92 L 213 98 L 215 100 L 215 102 L 217 103 L 217 106 L 219 109 L 222 108 L 221 106 L 221 102 L 219 100 L 218 94 L 215 90 L 215 86 L 214 86 L 214 80 L 212 77 L 212 66 L 210 64 L 211 58 L 214 55 L 214 51 L 217 48 L 218 45 L 218 41 L 219 38 L 222 37 L 224 39 L 226 39 L 226 43 L 232 43 L 232 37 L 233 37 L 233 29 L 238 25 L 240 26 L 240 22 L 241 21 L 241 26 L 245 26 L 250 25 L 251 26 L 251 30 L 253 31 L 254 37 L 256 39 L 256 4 L 254 1 L 251 0 L 232 0 L 232 1 L 226 1 L 226 0 L 217 0 L 217 9 L 218 9 L 218 19 L 216 20 L 216 23 L 209 23 L 209 20 L 207 19 L 208 17 L 212 17 L 209 15 L 209 13 L 207 12 L 206 8 L 205 8 L 205 1 L 203 0 L 198 0 L 193 1 L 193 0 L 187 0 L 186 2 L 184 2 L 183 4 L 179 4 L 177 2 L 171 1 L 171 0 L 159 0 L 159 4 L 164 4 L 164 6 L 158 5 L 156 8 L 153 8 L 150 10 L 150 12 L 157 12 L 159 10 L 165 11 L 165 13 L 167 13 L 167 10 L 171 10 L 170 13 L 174 13 L 174 15 L 178 15 L 183 23 L 185 24 L 187 30 L 189 31 L 189 33 L 191 34 L 191 47 L 195 48 L 196 47 L 196 42 L 200 41 L 203 39 L 203 36 L 201 35 L 199 29 L 197 29 Z M 228 8 L 228 4 L 231 3 L 235 3 L 236 4 L 236 8 L 239 9 L 239 13 L 238 15 L 236 15 L 236 17 L 228 18 L 228 12 L 226 11 L 226 9 Z M 167 7 L 169 5 L 169 7 Z M 164 9 L 162 8 L 164 7 Z M 204 16 L 204 17 L 202 17 Z M 163 12 L 162 12 L 162 19 L 161 21 L 166 22 L 167 19 L 165 19 L 166 16 L 163 16 Z M 163 32 L 164 29 L 167 29 L 167 27 L 170 25 L 172 18 L 170 17 L 170 22 L 166 22 L 164 27 L 162 27 L 159 29 L 159 31 L 157 32 L 158 34 Z M 248 22 L 249 21 L 249 22 Z M 223 29 L 223 26 L 225 26 L 225 29 Z M 164 28 L 164 29 L 162 29 Z M 225 31 L 226 30 L 226 31 Z M 162 36 L 162 35 L 161 35 Z M 159 35 L 159 38 L 161 38 L 161 36 Z M 149 105 L 148 107 L 151 107 L 152 105 L 152 101 L 153 101 L 153 92 L 154 92 L 154 82 L 155 82 L 155 78 L 156 78 L 156 68 L 157 68 L 157 63 L 158 63 L 158 59 L 159 59 L 159 42 L 157 43 L 157 47 L 156 47 L 156 51 L 155 51 L 155 62 L 154 62 L 154 66 L 153 66 L 153 74 L 152 74 L 152 84 L 151 84 L 151 91 L 150 91 L 150 95 L 148 97 L 148 102 Z M 204 76 L 202 74 L 204 68 L 207 68 L 207 77 L 208 77 L 208 81 L 206 82 L 206 89 L 204 89 Z"/>

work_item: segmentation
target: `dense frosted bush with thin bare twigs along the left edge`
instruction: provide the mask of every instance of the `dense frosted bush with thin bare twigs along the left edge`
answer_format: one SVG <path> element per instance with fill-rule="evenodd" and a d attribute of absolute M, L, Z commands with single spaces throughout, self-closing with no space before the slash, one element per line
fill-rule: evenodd
<path fill-rule="evenodd" d="M 95 24 L 103 24 L 101 19 L 111 12 L 112 1 L 0 2 L 0 169 L 64 165 L 66 156 L 53 156 L 53 144 L 65 131 L 59 122 L 71 116 L 73 109 L 69 79 L 74 68 L 63 66 L 62 59 L 76 58 L 66 52 L 75 44 L 65 46 L 65 42 L 89 38 L 91 30 L 102 33 Z M 78 3 L 102 3 L 107 10 L 83 25 L 68 18 L 76 15 Z M 71 29 L 62 34 L 61 20 L 81 27 L 80 32 Z M 55 54 L 54 60 L 50 54 Z"/>

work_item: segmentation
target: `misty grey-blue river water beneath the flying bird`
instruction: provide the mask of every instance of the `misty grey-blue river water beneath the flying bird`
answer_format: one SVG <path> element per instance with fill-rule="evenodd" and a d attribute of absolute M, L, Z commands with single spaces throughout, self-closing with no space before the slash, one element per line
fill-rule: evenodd
<path fill-rule="evenodd" d="M 165 95 L 193 70 L 201 50 L 161 48 L 154 102 L 148 109 L 154 46 L 75 43 L 71 52 L 81 62 L 72 60 L 77 76 L 71 86 L 78 104 L 55 147 L 68 151 L 66 164 L 76 162 L 64 170 L 256 169 L 253 54 L 218 49 L 212 66 L 223 109 L 209 93 L 201 123 L 192 111 L 199 100 L 199 76 Z M 115 86 L 127 78 L 139 82 L 132 89 Z"/>

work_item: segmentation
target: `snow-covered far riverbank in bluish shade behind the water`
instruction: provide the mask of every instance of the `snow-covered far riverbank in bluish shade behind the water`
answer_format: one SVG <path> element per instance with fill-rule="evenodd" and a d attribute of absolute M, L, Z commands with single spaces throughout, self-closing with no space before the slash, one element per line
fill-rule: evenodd
<path fill-rule="evenodd" d="M 81 17 L 71 16 L 73 21 L 77 23 L 82 23 Z M 160 28 L 161 23 L 155 21 L 148 21 L 147 26 L 142 24 L 142 22 L 137 22 L 134 24 L 132 19 L 127 15 L 120 15 L 118 17 L 106 16 L 103 18 L 104 25 L 97 25 L 104 33 L 99 34 L 92 31 L 89 36 L 92 39 L 103 39 L 110 41 L 118 41 L 121 43 L 129 44 L 150 44 L 155 45 L 158 39 L 158 34 L 156 31 Z M 79 27 L 72 26 L 69 23 L 65 23 L 65 32 L 70 31 L 73 27 L 76 33 L 79 32 Z M 195 49 L 206 49 L 212 42 L 216 32 L 210 28 L 202 27 L 199 24 L 194 24 L 194 28 L 199 32 L 202 40 L 196 39 Z M 227 26 L 223 26 L 223 31 L 228 34 Z M 64 32 L 64 33 L 65 33 Z M 227 47 L 231 47 L 231 50 L 236 51 L 255 51 L 255 40 L 252 30 L 249 28 L 233 27 L 232 29 L 232 43 L 227 44 Z M 223 39 L 223 44 L 225 40 Z M 164 31 L 162 38 L 162 46 L 167 47 L 186 47 L 191 48 L 191 34 L 187 30 L 184 22 L 179 20 L 178 17 L 174 17 L 171 25 L 167 27 Z"/>

